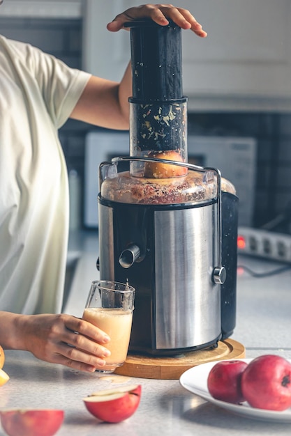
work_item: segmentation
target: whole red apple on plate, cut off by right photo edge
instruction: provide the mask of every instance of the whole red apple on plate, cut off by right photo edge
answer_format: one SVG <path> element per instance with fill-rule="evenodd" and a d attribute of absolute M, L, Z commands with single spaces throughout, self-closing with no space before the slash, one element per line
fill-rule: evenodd
<path fill-rule="evenodd" d="M 253 359 L 241 377 L 241 389 L 249 405 L 258 409 L 291 407 L 291 364 L 283 357 L 263 355 Z"/>

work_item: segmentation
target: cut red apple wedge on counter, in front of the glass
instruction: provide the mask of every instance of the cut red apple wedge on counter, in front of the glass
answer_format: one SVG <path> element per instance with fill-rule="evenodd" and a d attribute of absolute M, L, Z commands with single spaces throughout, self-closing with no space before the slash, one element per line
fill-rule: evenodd
<path fill-rule="evenodd" d="M 83 398 L 87 410 L 105 422 L 120 422 L 129 418 L 140 404 L 142 387 L 134 386 L 107 389 Z"/>

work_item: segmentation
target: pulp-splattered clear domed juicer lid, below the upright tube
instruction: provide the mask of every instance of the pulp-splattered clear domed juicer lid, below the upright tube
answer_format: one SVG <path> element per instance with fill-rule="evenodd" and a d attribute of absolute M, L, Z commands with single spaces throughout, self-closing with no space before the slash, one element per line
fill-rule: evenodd
<path fill-rule="evenodd" d="M 119 172 L 121 162 L 162 166 L 170 172 L 187 171 L 184 176 L 171 178 L 146 178 L 131 176 L 130 171 Z M 170 205 L 177 203 L 204 203 L 215 201 L 221 189 L 220 176 L 216 169 L 151 157 L 115 157 L 112 162 L 100 165 L 100 196 L 109 201 L 132 204 Z M 234 187 L 223 180 L 223 190 L 234 191 Z"/>

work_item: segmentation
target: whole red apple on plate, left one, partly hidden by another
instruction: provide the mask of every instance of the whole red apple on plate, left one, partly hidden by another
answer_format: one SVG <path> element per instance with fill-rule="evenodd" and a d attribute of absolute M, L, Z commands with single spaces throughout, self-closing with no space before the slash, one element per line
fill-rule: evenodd
<path fill-rule="evenodd" d="M 215 364 L 207 378 L 211 396 L 227 403 L 242 403 L 245 398 L 241 392 L 241 374 L 247 366 L 243 360 L 223 360 Z"/>

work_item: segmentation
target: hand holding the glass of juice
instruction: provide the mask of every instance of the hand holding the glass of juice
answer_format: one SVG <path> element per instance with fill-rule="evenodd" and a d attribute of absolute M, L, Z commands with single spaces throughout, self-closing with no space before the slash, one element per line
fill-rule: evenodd
<path fill-rule="evenodd" d="M 88 372 L 102 368 L 110 355 L 105 348 L 110 338 L 90 322 L 74 316 L 11 313 L 10 322 L 12 328 L 6 333 L 13 332 L 14 339 L 8 346 L 3 343 L 3 348 L 27 350 L 38 359 Z"/>

